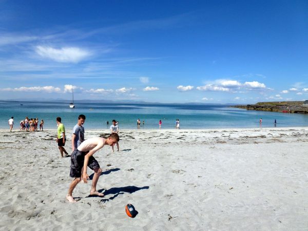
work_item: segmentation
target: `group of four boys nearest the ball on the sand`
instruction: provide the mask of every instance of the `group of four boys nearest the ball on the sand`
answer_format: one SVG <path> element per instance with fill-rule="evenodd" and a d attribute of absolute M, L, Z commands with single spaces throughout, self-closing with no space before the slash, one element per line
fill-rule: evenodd
<path fill-rule="evenodd" d="M 94 171 L 92 185 L 90 189 L 90 195 L 104 197 L 104 194 L 97 191 L 97 183 L 100 178 L 102 169 L 97 160 L 93 157 L 93 154 L 99 149 L 103 148 L 105 145 L 109 145 L 113 150 L 113 146 L 116 144 L 118 151 L 119 149 L 119 126 L 115 120 L 112 120 L 112 125 L 110 126 L 111 134 L 107 138 L 95 137 L 85 140 L 85 130 L 83 124 L 85 123 L 86 117 L 84 114 L 80 114 L 78 117 L 78 122 L 74 126 L 72 131 L 72 140 L 71 140 L 71 165 L 70 165 L 70 177 L 73 178 L 72 182 L 69 185 L 68 194 L 66 199 L 69 202 L 76 202 L 72 196 L 72 192 L 76 185 L 83 180 L 84 183 L 88 183 L 89 176 L 87 174 L 87 167 L 91 168 Z M 65 150 L 65 127 L 61 123 L 61 117 L 56 118 L 57 123 L 57 137 L 56 142 L 59 147 L 61 156 L 69 157 L 68 152 Z"/>

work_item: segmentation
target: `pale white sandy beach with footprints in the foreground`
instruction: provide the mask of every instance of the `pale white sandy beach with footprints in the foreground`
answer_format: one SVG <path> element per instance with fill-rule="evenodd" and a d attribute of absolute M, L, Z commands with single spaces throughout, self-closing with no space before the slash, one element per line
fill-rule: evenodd
<path fill-rule="evenodd" d="M 0 229 L 308 230 L 306 127 L 121 130 L 121 151 L 94 155 L 105 197 L 89 197 L 90 180 L 78 203 L 55 134 L 0 129 Z"/>

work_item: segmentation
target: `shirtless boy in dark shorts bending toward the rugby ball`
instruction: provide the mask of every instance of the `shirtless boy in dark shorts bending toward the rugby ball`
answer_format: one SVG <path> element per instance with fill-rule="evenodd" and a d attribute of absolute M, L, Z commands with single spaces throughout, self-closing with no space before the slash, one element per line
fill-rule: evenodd
<path fill-rule="evenodd" d="M 73 177 L 73 181 L 71 182 L 68 188 L 68 194 L 66 195 L 66 199 L 69 202 L 76 202 L 72 196 L 73 190 L 76 185 L 83 180 L 84 183 L 88 183 L 89 176 L 87 174 L 87 166 L 94 171 L 94 176 L 92 179 L 92 186 L 90 189 L 90 195 L 104 197 L 104 194 L 97 191 L 97 183 L 101 176 L 102 169 L 100 168 L 99 163 L 93 157 L 93 154 L 97 152 L 99 149 L 104 147 L 104 145 L 114 145 L 119 142 L 119 136 L 117 133 L 111 133 L 107 139 L 102 137 L 95 137 L 85 140 L 78 148 L 76 148 L 72 152 L 71 156 L 71 166 L 70 166 L 70 177 Z M 82 174 L 83 169 L 83 174 Z M 83 178 L 81 179 L 81 176 Z"/>

